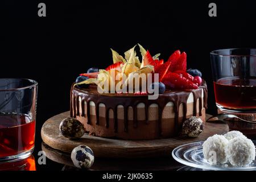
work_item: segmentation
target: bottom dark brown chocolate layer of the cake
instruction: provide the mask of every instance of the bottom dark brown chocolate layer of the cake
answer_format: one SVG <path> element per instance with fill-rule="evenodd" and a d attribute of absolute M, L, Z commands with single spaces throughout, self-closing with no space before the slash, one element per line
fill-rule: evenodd
<path fill-rule="evenodd" d="M 113 113 L 113 112 L 112 112 Z M 203 109 L 201 115 L 201 119 L 205 121 L 205 109 Z M 187 118 L 191 117 L 191 115 L 187 115 Z M 199 113 L 197 113 L 197 116 L 199 117 Z M 77 116 L 77 119 L 81 121 L 86 131 L 88 131 L 90 134 L 100 137 L 117 137 L 122 139 L 156 139 L 156 138 L 170 138 L 175 137 L 175 118 L 162 118 L 162 121 L 160 124 L 162 125 L 162 131 L 161 135 L 159 134 L 159 120 L 153 119 L 150 120 L 150 122 L 146 122 L 145 120 L 138 120 L 137 127 L 134 128 L 134 121 L 133 119 L 128 120 L 128 132 L 125 132 L 123 130 L 124 126 L 124 120 L 118 119 L 118 130 L 115 132 L 114 130 L 114 119 L 109 118 L 109 127 L 106 128 L 106 118 L 100 117 L 99 118 L 99 124 L 96 125 L 96 116 L 90 115 L 91 122 L 90 124 L 87 124 L 87 118 Z M 181 130 L 183 123 L 183 117 L 178 118 L 178 130 Z M 179 134 L 179 133 L 178 133 Z"/>

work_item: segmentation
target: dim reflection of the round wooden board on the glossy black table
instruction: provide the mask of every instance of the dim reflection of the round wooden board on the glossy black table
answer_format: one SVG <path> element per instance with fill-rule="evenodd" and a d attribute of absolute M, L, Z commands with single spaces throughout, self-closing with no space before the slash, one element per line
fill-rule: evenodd
<path fill-rule="evenodd" d="M 47 144 L 42 143 L 42 150 L 46 152 L 46 157 L 56 163 L 63 164 L 62 170 L 79 170 L 73 166 L 70 154 L 55 150 Z M 92 168 L 93 171 L 117 171 L 117 170 L 145 170 L 145 171 L 173 171 L 183 167 L 171 157 L 168 158 L 138 158 L 138 159 L 122 159 L 122 158 L 96 158 Z"/>

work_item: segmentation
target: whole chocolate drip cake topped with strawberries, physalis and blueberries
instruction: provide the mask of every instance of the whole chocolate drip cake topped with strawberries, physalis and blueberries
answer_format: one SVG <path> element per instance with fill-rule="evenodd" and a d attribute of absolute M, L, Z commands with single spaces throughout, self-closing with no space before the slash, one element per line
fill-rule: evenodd
<path fill-rule="evenodd" d="M 134 48 L 126 51 L 125 57 L 112 49 L 112 65 L 100 70 L 90 68 L 77 77 L 71 86 L 71 117 L 84 124 L 90 135 L 134 140 L 176 137 L 183 121 L 192 116 L 205 122 L 207 84 L 200 71 L 187 70 L 186 53 L 177 50 L 164 62 L 159 59 L 160 54 L 151 56 L 139 45 L 142 55 L 139 61 Z M 121 80 L 116 75 L 121 75 Z M 148 81 L 148 76 L 153 75 L 159 79 L 154 77 L 154 82 Z M 144 76 L 146 80 L 129 82 L 130 76 Z M 102 81 L 104 88 L 100 84 Z M 125 82 L 129 82 L 129 86 L 138 84 L 140 89 L 145 83 L 150 87 L 126 93 Z M 108 86 L 105 87 L 105 83 Z M 119 89 L 98 93 L 98 88 L 105 90 L 119 83 L 122 92 Z M 159 93 L 155 100 L 148 97 L 150 88 L 154 95 Z"/>

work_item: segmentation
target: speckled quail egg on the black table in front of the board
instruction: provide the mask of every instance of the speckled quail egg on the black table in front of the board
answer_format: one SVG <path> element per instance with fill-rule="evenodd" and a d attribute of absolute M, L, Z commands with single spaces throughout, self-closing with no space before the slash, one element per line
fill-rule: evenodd
<path fill-rule="evenodd" d="M 93 151 L 88 146 L 77 146 L 71 152 L 71 159 L 77 168 L 90 168 L 94 162 Z"/>

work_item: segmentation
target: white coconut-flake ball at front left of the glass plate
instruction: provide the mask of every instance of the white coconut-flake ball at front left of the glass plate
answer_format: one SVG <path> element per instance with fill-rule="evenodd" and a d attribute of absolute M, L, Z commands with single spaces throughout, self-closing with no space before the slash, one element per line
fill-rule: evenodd
<path fill-rule="evenodd" d="M 210 164 L 224 164 L 227 161 L 225 154 L 225 146 L 228 144 L 228 139 L 223 135 L 213 135 L 203 143 L 204 158 Z"/>

